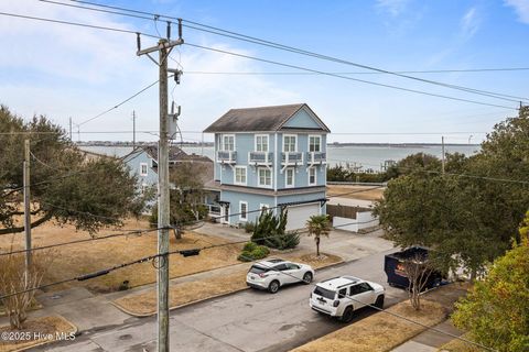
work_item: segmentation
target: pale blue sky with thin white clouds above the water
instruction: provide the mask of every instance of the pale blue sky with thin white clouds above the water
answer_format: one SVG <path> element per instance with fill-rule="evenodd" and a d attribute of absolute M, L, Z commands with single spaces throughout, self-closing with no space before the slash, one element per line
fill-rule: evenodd
<path fill-rule="evenodd" d="M 446 143 L 478 143 L 496 123 L 517 116 L 520 100 L 529 103 L 529 0 L 91 1 L 182 18 L 387 72 L 526 68 L 407 74 L 510 96 L 497 99 L 184 26 L 186 44 L 173 48 L 169 61 L 184 74 L 180 85 L 170 79 L 169 101 L 182 107 L 179 124 L 185 142 L 212 141 L 202 131 L 233 108 L 306 102 L 330 127 L 330 142 L 440 143 L 444 136 Z M 164 35 L 166 25 L 154 16 L 37 0 L 0 0 L 0 12 L 154 35 Z M 148 47 L 156 40 L 142 35 L 141 41 Z M 134 111 L 137 140 L 158 140 L 158 86 L 93 119 L 158 79 L 158 66 L 136 55 L 134 34 L 0 15 L 0 103 L 18 116 L 44 114 L 65 130 L 72 119 L 74 140 L 131 141 Z"/>

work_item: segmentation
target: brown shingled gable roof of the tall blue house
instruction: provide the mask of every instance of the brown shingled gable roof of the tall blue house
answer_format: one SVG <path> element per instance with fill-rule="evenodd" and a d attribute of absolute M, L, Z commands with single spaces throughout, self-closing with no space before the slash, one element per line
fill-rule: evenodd
<path fill-rule="evenodd" d="M 330 132 L 306 103 L 260 108 L 231 109 L 204 130 L 215 132 L 267 132 L 279 131 L 298 111 L 306 109 L 322 131 Z"/>

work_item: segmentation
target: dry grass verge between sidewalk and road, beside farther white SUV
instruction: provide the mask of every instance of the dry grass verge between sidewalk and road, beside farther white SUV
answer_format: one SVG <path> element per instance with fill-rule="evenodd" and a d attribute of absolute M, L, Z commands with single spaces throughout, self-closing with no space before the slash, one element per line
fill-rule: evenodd
<path fill-rule="evenodd" d="M 321 257 L 316 257 L 313 254 L 303 254 L 283 255 L 283 257 L 312 265 L 314 268 L 342 262 L 342 258 L 336 255 L 322 255 Z M 203 299 L 246 289 L 247 272 L 248 268 L 245 267 L 229 275 L 172 285 L 169 296 L 170 307 L 174 309 Z M 115 300 L 114 304 L 133 316 L 151 316 L 156 312 L 156 292 L 155 289 L 151 289 L 148 293 L 129 295 Z"/>

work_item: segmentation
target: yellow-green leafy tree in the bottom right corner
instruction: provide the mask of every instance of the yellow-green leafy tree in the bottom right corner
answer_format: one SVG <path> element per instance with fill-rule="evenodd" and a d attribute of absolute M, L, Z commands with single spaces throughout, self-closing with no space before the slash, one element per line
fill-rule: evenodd
<path fill-rule="evenodd" d="M 520 228 L 520 243 L 489 267 L 456 304 L 452 320 L 475 341 L 497 351 L 529 349 L 529 212 Z"/>

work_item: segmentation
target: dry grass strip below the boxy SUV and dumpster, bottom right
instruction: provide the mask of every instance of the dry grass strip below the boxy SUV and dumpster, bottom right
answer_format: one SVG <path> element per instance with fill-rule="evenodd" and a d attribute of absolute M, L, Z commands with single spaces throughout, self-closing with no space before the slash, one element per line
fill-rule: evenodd
<path fill-rule="evenodd" d="M 386 311 L 432 327 L 447 318 L 454 301 L 465 293 L 465 286 L 453 284 L 428 293 L 420 311 L 414 310 L 408 300 Z M 377 312 L 292 351 L 390 351 L 424 330 L 417 323 L 387 312 Z"/>

